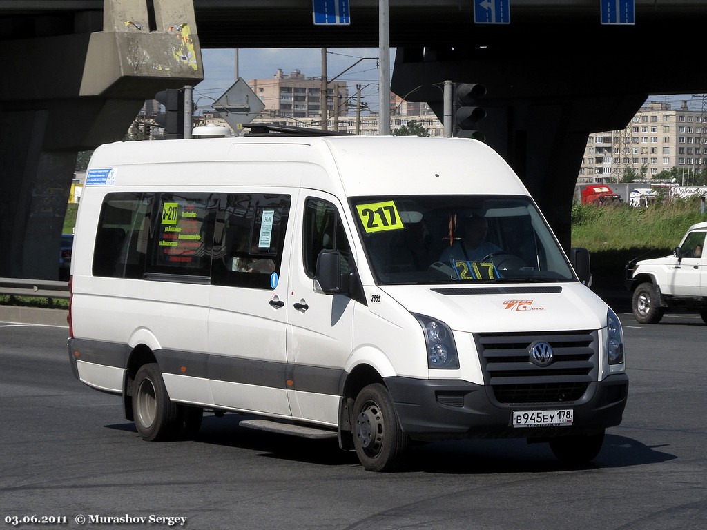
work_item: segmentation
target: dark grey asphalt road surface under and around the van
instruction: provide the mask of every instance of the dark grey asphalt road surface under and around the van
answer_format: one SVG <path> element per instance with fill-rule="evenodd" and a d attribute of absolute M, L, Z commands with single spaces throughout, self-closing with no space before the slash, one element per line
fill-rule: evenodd
<path fill-rule="evenodd" d="M 71 375 L 65 327 L 0 322 L 0 527 L 703 530 L 707 326 L 621 319 L 629 404 L 593 464 L 464 440 L 413 447 L 398 473 L 364 471 L 336 442 L 240 428 L 235 414 L 206 416 L 194 441 L 144 442 L 117 397 Z"/>

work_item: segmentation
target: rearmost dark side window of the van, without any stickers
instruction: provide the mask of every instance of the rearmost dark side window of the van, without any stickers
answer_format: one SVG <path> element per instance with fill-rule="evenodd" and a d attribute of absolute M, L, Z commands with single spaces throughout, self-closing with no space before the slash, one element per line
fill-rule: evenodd
<path fill-rule="evenodd" d="M 93 249 L 93 276 L 142 278 L 152 208 L 150 195 L 105 196 Z"/>

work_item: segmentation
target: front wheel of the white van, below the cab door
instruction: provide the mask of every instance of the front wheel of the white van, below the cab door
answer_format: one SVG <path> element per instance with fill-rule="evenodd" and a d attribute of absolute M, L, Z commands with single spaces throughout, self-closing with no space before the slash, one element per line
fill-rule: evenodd
<path fill-rule="evenodd" d="M 370 384 L 358 393 L 352 411 L 354 447 L 368 471 L 395 469 L 407 449 L 392 399 L 382 384 Z"/>

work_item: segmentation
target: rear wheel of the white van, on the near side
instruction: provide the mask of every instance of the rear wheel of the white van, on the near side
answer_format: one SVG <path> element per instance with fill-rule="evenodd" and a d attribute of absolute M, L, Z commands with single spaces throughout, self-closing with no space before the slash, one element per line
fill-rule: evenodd
<path fill-rule="evenodd" d="M 182 430 L 183 419 L 179 407 L 170 401 L 157 363 L 140 367 L 133 388 L 133 417 L 143 440 L 174 440 Z"/>

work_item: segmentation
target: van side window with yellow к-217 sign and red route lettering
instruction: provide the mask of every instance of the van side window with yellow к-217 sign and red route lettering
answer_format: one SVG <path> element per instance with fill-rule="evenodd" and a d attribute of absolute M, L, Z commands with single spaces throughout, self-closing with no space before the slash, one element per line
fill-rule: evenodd
<path fill-rule="evenodd" d="M 146 273 L 209 276 L 217 194 L 158 194 Z"/>

